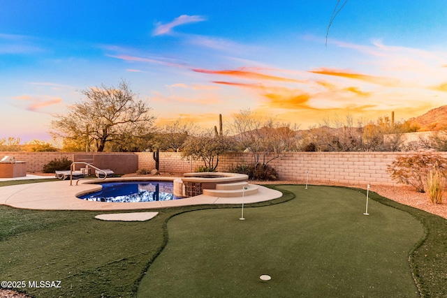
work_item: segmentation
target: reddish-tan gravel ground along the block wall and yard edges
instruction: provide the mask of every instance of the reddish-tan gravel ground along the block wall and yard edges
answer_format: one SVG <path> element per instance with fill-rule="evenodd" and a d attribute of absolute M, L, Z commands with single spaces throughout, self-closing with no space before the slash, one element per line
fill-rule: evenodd
<path fill-rule="evenodd" d="M 171 174 L 176 176 L 175 174 Z M 128 174 L 126 177 L 138 177 L 136 174 Z M 146 177 L 149 175 L 145 175 Z M 169 174 L 163 176 L 170 176 Z M 181 176 L 181 175 L 180 175 Z M 251 183 L 254 184 L 297 184 L 296 181 L 253 181 Z M 328 185 L 328 184 L 321 184 Z M 334 184 L 335 185 L 335 184 Z M 366 186 L 363 185 L 354 185 L 354 184 L 344 184 L 338 186 L 351 186 L 356 188 L 364 188 Z M 438 216 L 447 218 L 447 191 L 444 191 L 444 201 L 442 204 L 432 204 L 428 198 L 426 193 L 417 193 L 414 188 L 410 186 L 379 186 L 373 185 L 369 188 L 369 191 L 374 191 L 379 195 L 393 200 L 395 202 L 400 202 L 401 204 L 406 204 L 411 207 L 415 207 L 418 209 L 422 209 L 424 211 L 430 212 L 431 214 L 437 214 Z M 0 297 L 2 298 L 28 298 L 27 295 L 22 293 L 15 292 L 13 290 L 3 290 L 0 289 Z"/>

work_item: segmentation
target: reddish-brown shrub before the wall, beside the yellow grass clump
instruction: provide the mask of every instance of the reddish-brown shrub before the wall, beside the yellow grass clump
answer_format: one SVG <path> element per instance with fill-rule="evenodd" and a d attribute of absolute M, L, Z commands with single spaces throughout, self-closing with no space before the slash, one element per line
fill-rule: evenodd
<path fill-rule="evenodd" d="M 411 156 L 400 156 L 388 165 L 391 178 L 397 183 L 411 185 L 419 193 L 425 193 L 427 174 L 437 167 L 442 175 L 446 173 L 447 159 L 428 152 Z"/>

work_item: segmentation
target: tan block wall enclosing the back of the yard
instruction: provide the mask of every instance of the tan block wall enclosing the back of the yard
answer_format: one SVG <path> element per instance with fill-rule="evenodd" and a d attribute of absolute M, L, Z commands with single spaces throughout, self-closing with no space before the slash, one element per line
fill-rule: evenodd
<path fill-rule="evenodd" d="M 54 158 L 73 158 L 79 152 L 0 152 L 3 156 L 14 156 L 16 161 L 27 162 L 27 172 L 41 172 L 43 165 Z M 101 154 L 101 153 L 96 153 Z M 127 153 L 129 154 L 129 153 Z M 138 168 L 152 170 L 155 161 L 152 152 L 138 152 Z M 281 154 L 281 158 L 270 162 L 279 174 L 279 179 L 305 184 L 309 171 L 309 184 L 371 184 L 395 185 L 390 178 L 387 166 L 398 156 L 415 154 L 415 152 L 290 152 Z M 440 153 L 447 158 L 447 152 Z M 119 158 L 119 153 L 113 154 Z M 72 159 L 73 160 L 73 159 Z M 250 163 L 249 153 L 226 154 L 219 160 L 218 170 L 224 172 L 229 165 Z M 160 152 L 160 171 L 185 173 L 193 172 L 203 165 L 202 161 L 182 158 L 180 153 Z"/>

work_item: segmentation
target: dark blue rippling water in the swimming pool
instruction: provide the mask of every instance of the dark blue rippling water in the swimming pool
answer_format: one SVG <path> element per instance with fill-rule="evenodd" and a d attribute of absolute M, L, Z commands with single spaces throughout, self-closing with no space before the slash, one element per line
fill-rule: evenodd
<path fill-rule="evenodd" d="M 94 202 L 156 202 L 182 199 L 173 193 L 172 181 L 119 181 L 101 183 L 103 188 L 78 198 Z"/>

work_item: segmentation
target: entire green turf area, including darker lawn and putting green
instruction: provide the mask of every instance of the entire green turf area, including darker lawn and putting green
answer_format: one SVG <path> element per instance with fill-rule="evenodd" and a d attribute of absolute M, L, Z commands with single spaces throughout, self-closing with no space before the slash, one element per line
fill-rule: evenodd
<path fill-rule="evenodd" d="M 0 206 L 0 280 L 61 281 L 18 289 L 34 297 L 447 296 L 444 218 L 375 193 L 364 216 L 356 189 L 280 190 L 245 221 L 231 206 L 160 209 L 142 223 Z"/>

